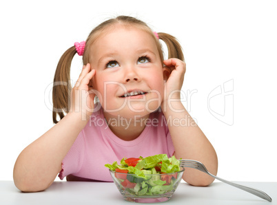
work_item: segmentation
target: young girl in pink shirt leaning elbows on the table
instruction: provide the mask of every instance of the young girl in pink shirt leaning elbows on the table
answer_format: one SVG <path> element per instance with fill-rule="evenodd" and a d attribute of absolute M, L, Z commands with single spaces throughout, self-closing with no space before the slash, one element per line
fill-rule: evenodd
<path fill-rule="evenodd" d="M 165 61 L 159 40 L 168 48 Z M 76 52 L 83 55 L 83 70 L 71 89 Z M 57 125 L 20 153 L 14 164 L 17 188 L 42 191 L 58 173 L 61 179 L 112 182 L 104 164 L 159 153 L 201 161 L 216 175 L 216 152 L 181 103 L 183 60 L 173 36 L 154 33 L 133 17 L 94 28 L 61 56 L 53 87 Z M 214 179 L 187 168 L 183 180 L 207 186 Z"/>

